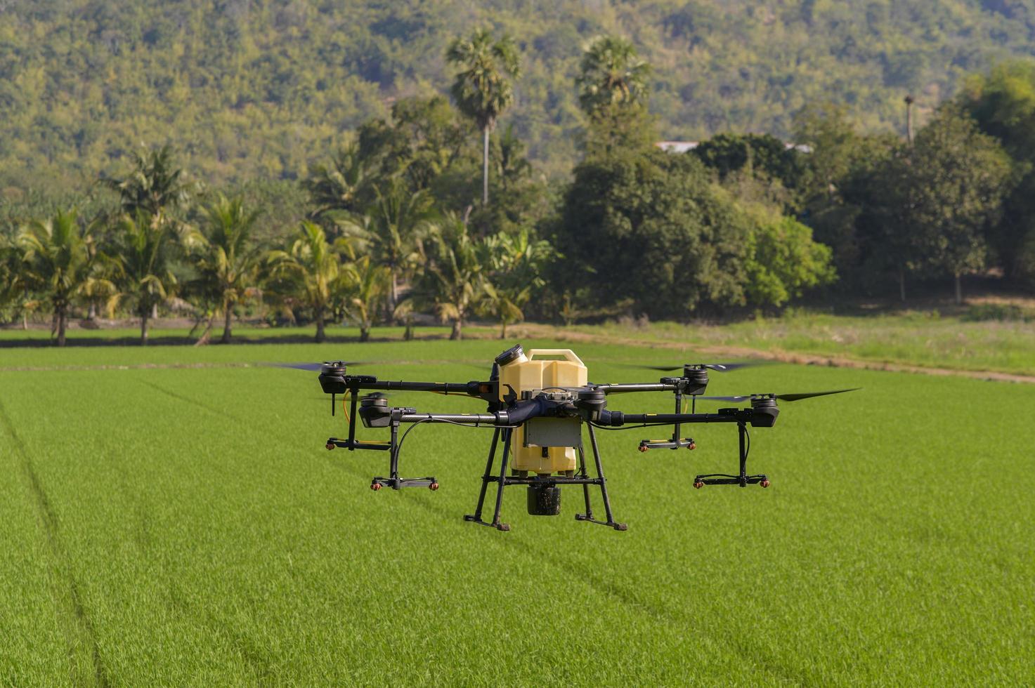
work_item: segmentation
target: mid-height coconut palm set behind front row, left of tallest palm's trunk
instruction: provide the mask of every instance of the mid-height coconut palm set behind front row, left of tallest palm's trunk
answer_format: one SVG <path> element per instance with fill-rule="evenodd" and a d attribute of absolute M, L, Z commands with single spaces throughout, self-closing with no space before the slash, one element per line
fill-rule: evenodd
<path fill-rule="evenodd" d="M 421 239 L 435 227 L 438 213 L 435 199 L 425 190 L 410 191 L 406 183 L 393 178 L 376 188 L 377 198 L 359 221 L 343 220 L 346 236 L 368 250 L 388 268 L 388 312 L 398 304 L 401 278 L 422 260 Z"/>

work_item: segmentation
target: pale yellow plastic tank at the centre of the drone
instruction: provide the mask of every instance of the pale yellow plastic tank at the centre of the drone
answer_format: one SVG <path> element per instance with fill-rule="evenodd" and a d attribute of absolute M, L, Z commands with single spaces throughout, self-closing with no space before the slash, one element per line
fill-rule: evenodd
<path fill-rule="evenodd" d="M 560 356 L 562 360 L 544 357 Z M 586 384 L 586 366 L 570 349 L 532 349 L 500 365 L 500 395 L 507 394 L 510 385 L 518 397 L 532 390 L 550 391 L 551 387 L 582 387 Z M 533 421 L 534 422 L 534 421 Z M 575 470 L 574 447 L 526 447 L 525 426 L 514 430 L 510 439 L 510 466 L 515 471 L 550 475 Z"/>

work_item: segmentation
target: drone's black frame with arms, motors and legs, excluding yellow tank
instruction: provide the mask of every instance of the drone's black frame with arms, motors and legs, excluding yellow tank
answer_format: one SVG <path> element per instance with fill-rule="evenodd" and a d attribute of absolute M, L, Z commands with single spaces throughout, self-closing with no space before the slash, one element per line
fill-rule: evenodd
<path fill-rule="evenodd" d="M 478 493 L 478 501 L 473 514 L 465 514 L 464 519 L 480 526 L 487 526 L 499 531 L 509 531 L 510 526 L 501 521 L 501 509 L 503 504 L 503 490 L 505 487 L 513 485 L 525 485 L 538 489 L 529 490 L 529 513 L 540 515 L 555 515 L 559 513 L 559 487 L 565 485 L 582 485 L 585 501 L 585 511 L 575 514 L 576 520 L 584 520 L 599 524 L 613 528 L 616 531 L 626 530 L 624 522 L 616 521 L 611 507 L 611 499 L 608 495 L 607 479 L 604 478 L 603 461 L 600 456 L 594 428 L 618 429 L 618 426 L 631 425 L 650 427 L 655 425 L 673 425 L 674 432 L 671 440 L 643 440 L 639 449 L 647 451 L 651 448 L 693 449 L 696 443 L 691 438 L 680 438 L 680 426 L 692 423 L 736 423 L 739 436 L 739 472 L 733 474 L 701 474 L 693 478 L 692 486 L 700 488 L 704 485 L 747 485 L 759 484 L 762 487 L 769 486 L 769 479 L 764 474 L 749 475 L 746 472 L 746 463 L 750 450 L 750 437 L 747 426 L 771 427 L 779 414 L 776 406 L 777 398 L 792 397 L 804 398 L 806 396 L 825 394 L 832 392 L 822 392 L 815 394 L 799 395 L 775 395 L 775 394 L 752 394 L 737 397 L 705 397 L 730 400 L 747 399 L 750 401 L 749 408 L 726 408 L 719 409 L 716 413 L 696 413 L 697 398 L 704 392 L 708 384 L 706 365 L 687 365 L 681 378 L 662 378 L 658 383 L 626 383 L 594 385 L 588 384 L 585 387 L 570 388 L 565 390 L 567 396 L 563 401 L 554 400 L 554 395 L 548 395 L 542 390 L 537 395 L 526 394 L 520 402 L 518 395 L 512 388 L 508 389 L 505 395 L 500 394 L 499 367 L 493 366 L 493 372 L 487 382 L 471 381 L 468 383 L 428 383 L 428 382 L 406 382 L 406 381 L 382 381 L 373 376 L 347 375 L 346 365 L 343 363 L 325 363 L 320 373 L 320 383 L 326 393 L 331 394 L 332 405 L 336 394 L 347 394 L 351 397 L 351 413 L 348 414 L 349 437 L 342 440 L 329 438 L 326 443 L 327 449 L 341 447 L 349 451 L 355 450 L 377 450 L 389 452 L 389 475 L 376 476 L 372 479 L 371 488 L 375 491 L 384 487 L 391 489 L 402 489 L 404 487 L 427 487 L 432 490 L 439 488 L 439 483 L 434 476 L 419 478 L 403 478 L 398 473 L 400 450 L 407 432 L 400 437 L 400 428 L 403 424 L 417 423 L 451 423 L 464 426 L 493 427 L 493 439 L 489 447 L 485 469 L 481 477 L 481 486 Z M 556 388 L 554 388 L 556 389 Z M 368 392 L 360 397 L 361 391 Z M 483 414 L 433 414 L 417 413 L 416 409 L 403 407 L 389 407 L 387 399 L 380 392 L 385 391 L 419 391 L 435 392 L 439 394 L 459 394 L 470 397 L 481 398 L 489 405 L 486 413 Z M 673 414 L 627 414 L 622 412 L 605 411 L 605 396 L 615 393 L 628 392 L 654 392 L 670 391 L 675 393 L 676 413 Z M 839 390 L 850 391 L 850 390 Z M 693 411 L 689 414 L 680 413 L 684 396 L 690 396 L 693 401 Z M 531 397 L 531 398 L 530 398 Z M 549 397 L 549 398 L 548 398 Z M 502 399 L 502 400 L 501 400 Z M 364 426 L 367 427 L 388 427 L 390 429 L 389 442 L 371 442 L 356 439 L 356 419 L 359 417 Z M 565 475 L 537 475 L 530 477 L 528 472 L 511 470 L 508 475 L 510 446 L 513 430 L 524 423 L 540 417 L 563 417 L 579 419 L 580 424 L 587 426 L 590 450 L 595 465 L 595 477 L 589 474 L 587 452 L 580 445 L 575 447 L 579 457 L 578 467 L 573 471 L 565 472 Z M 500 457 L 500 466 L 497 470 L 496 453 L 499 445 L 503 445 Z M 492 520 L 482 518 L 485 509 L 485 499 L 490 483 L 496 483 L 495 506 Z M 590 486 L 597 485 L 600 488 L 600 497 L 603 502 L 605 520 L 594 517 L 590 500 Z M 534 511 L 533 501 L 539 500 L 538 505 L 543 510 Z M 555 506 L 556 510 L 550 509 Z"/>

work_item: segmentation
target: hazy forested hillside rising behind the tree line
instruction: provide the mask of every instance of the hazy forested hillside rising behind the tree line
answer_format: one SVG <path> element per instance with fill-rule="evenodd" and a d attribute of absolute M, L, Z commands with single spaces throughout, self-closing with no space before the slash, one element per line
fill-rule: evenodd
<path fill-rule="evenodd" d="M 583 42 L 630 37 L 668 139 L 787 136 L 803 103 L 899 126 L 960 77 L 1035 51 L 1035 0 L 0 0 L 0 185 L 80 182 L 173 143 L 215 180 L 293 178 L 394 98 L 445 92 L 473 26 L 523 52 L 504 117 L 548 172 L 575 158 Z"/>

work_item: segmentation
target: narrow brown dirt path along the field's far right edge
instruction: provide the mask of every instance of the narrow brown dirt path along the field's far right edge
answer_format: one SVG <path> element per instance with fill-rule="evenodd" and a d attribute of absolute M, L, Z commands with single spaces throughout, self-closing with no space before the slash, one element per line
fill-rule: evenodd
<path fill-rule="evenodd" d="M 557 339 L 558 341 L 574 341 L 582 343 L 624 345 L 627 347 L 647 347 L 652 349 L 684 350 L 688 345 L 678 341 L 658 341 L 637 339 L 612 334 L 589 334 L 572 332 L 550 325 L 523 324 L 511 326 L 514 336 L 534 337 L 541 339 Z M 794 354 L 785 351 L 763 351 L 746 347 L 693 347 L 694 352 L 714 356 L 716 358 L 753 358 L 780 363 L 796 363 L 799 365 L 827 365 L 837 368 L 858 368 L 861 370 L 890 370 L 893 372 L 918 372 L 928 376 L 954 376 L 957 378 L 973 378 L 974 380 L 995 380 L 997 382 L 1014 382 L 1035 384 L 1035 377 L 997 372 L 995 370 L 957 370 L 952 368 L 933 368 L 907 363 L 890 363 L 887 361 L 865 361 L 855 358 L 818 356 L 815 354 Z"/>

